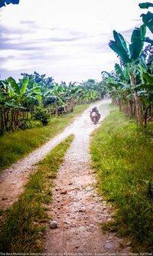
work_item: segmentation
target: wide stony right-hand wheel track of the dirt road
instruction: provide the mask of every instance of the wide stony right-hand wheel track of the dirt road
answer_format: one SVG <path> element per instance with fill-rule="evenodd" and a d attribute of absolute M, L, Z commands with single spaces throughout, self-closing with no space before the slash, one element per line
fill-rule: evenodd
<path fill-rule="evenodd" d="M 109 113 L 106 103 L 99 104 L 102 120 Z M 53 202 L 48 206 L 50 218 L 58 225 L 55 229 L 48 225 L 44 251 L 48 254 L 129 252 L 129 241 L 100 228 L 100 223 L 111 219 L 112 210 L 96 194 L 96 180 L 90 169 L 90 134 L 97 126 L 84 113 L 74 122 L 75 137 L 54 181 Z"/>

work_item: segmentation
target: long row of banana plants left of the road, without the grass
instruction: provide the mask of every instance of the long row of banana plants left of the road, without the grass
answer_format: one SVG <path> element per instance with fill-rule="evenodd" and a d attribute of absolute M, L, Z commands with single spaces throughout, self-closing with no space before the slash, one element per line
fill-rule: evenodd
<path fill-rule="evenodd" d="M 0 134 L 24 130 L 39 120 L 44 126 L 51 117 L 73 112 L 77 105 L 99 100 L 105 94 L 101 83 L 87 80 L 57 84 L 45 74 L 21 74 L 0 80 Z"/>

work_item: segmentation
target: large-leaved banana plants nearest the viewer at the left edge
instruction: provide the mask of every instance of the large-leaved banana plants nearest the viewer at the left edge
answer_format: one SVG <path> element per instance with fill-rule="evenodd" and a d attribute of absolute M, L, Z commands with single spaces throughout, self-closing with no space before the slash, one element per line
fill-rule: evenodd
<path fill-rule="evenodd" d="M 19 116 L 24 111 L 29 111 L 31 105 L 34 106 L 36 100 L 41 100 L 41 90 L 37 84 L 28 89 L 29 79 L 25 77 L 20 83 L 14 78 L 0 82 L 0 106 L 2 115 L 2 126 L 7 130 L 8 123 L 12 129 L 19 125 Z M 11 118 L 11 121 L 9 121 Z"/>

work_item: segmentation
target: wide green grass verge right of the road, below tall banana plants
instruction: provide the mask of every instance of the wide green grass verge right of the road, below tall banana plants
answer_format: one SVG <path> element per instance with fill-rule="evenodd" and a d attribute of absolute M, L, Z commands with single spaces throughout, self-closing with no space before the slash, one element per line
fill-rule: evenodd
<path fill-rule="evenodd" d="M 99 192 L 115 209 L 114 221 L 103 228 L 129 236 L 134 251 L 153 250 L 153 199 L 148 192 L 148 182 L 153 182 L 152 130 L 153 124 L 138 128 L 115 109 L 91 142 Z"/>

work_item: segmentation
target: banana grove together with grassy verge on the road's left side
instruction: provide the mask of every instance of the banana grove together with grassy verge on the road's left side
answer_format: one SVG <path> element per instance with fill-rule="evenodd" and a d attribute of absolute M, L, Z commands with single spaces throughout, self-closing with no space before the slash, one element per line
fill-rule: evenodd
<path fill-rule="evenodd" d="M 59 133 L 87 103 L 101 99 L 101 82 L 57 84 L 45 74 L 0 80 L 0 170 Z"/>

